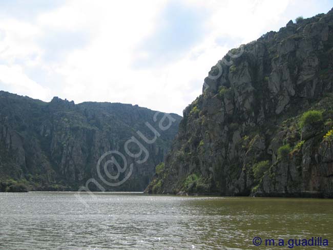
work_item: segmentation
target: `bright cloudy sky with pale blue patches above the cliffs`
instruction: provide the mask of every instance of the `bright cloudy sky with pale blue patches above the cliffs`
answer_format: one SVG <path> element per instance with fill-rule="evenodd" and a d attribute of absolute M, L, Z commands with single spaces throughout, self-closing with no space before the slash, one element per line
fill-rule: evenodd
<path fill-rule="evenodd" d="M 228 50 L 333 0 L 0 0 L 0 90 L 182 115 Z"/>

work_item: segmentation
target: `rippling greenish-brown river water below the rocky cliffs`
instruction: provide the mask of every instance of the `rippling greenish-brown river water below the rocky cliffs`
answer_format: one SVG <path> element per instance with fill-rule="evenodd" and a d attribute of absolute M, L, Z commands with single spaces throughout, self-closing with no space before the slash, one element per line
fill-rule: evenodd
<path fill-rule="evenodd" d="M 0 193 L 0 249 L 289 249 L 265 239 L 322 237 L 333 200 Z M 261 237 L 261 246 L 253 238 Z"/>

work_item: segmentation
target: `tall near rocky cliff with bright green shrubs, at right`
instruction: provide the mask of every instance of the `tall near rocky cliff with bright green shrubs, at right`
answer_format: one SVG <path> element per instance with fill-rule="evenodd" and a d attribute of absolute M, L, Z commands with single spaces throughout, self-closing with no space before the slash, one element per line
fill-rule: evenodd
<path fill-rule="evenodd" d="M 333 197 L 333 11 L 212 68 L 149 193 Z"/>

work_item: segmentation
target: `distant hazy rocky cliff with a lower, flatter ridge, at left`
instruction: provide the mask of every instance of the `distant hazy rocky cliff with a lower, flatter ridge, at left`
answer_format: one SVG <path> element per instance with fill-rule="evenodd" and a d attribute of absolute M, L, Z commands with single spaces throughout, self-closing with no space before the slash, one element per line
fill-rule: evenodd
<path fill-rule="evenodd" d="M 29 190 L 77 191 L 90 178 L 99 181 L 98 159 L 117 150 L 126 156 L 129 165 L 133 163 L 133 173 L 123 184 L 104 188 L 142 191 L 168 152 L 181 118 L 171 114 L 174 120 L 170 128 L 161 131 L 157 124 L 163 114 L 154 120 L 155 114 L 121 103 L 75 105 L 57 97 L 43 102 L 0 91 L 0 190 L 22 191 L 26 185 Z M 145 143 L 137 133 L 149 139 L 154 137 L 147 122 L 159 132 L 154 143 Z M 141 141 L 149 153 L 140 164 L 124 150 L 124 144 L 132 137 Z M 139 150 L 133 142 L 128 149 L 133 153 Z M 98 190 L 94 184 L 89 188 Z"/>

